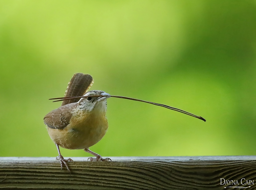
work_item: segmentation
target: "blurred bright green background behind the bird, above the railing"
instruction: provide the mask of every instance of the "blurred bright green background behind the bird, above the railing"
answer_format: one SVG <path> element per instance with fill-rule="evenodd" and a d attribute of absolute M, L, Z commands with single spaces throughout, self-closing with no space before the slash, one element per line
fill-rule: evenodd
<path fill-rule="evenodd" d="M 74 73 L 108 99 L 102 156 L 256 155 L 256 1 L 0 1 L 0 156 L 57 156 Z M 61 148 L 63 156 L 90 156 Z"/>

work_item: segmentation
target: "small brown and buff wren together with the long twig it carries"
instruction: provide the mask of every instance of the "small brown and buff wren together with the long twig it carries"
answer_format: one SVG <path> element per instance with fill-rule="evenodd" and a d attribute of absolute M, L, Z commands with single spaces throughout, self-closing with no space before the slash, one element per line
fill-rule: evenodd
<path fill-rule="evenodd" d="M 68 83 L 65 97 L 52 98 L 61 99 L 57 100 L 63 101 L 61 106 L 44 117 L 44 123 L 48 126 L 48 133 L 59 153 L 56 159 L 60 161 L 61 168 L 63 165 L 67 167 L 69 173 L 70 169 L 67 162 L 73 160 L 70 158 L 64 159 L 60 154 L 59 146 L 65 149 L 83 149 L 96 157 L 90 157 L 88 159 L 90 161 L 111 161 L 110 158 L 103 159 L 101 155 L 89 150 L 90 146 L 103 138 L 108 129 L 108 120 L 106 118 L 107 98 L 115 97 L 146 102 L 206 121 L 200 116 L 168 105 L 123 96 L 110 96 L 110 94 L 101 90 L 88 91 L 92 84 L 93 79 L 90 75 L 74 74 Z"/>

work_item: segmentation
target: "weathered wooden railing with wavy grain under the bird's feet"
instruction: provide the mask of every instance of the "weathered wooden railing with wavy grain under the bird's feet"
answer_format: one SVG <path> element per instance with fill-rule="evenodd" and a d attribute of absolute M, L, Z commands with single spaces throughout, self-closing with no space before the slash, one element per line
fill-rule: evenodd
<path fill-rule="evenodd" d="M 72 157 L 71 157 L 72 158 Z M 256 179 L 256 156 L 110 157 L 113 162 L 68 162 L 55 157 L 0 157 L 0 188 L 11 189 L 224 189 Z M 239 184 L 220 184 L 220 178 Z M 250 183 L 251 183 L 250 182 Z M 223 180 L 222 180 L 223 183 Z M 234 189 L 234 188 L 227 188 Z"/>

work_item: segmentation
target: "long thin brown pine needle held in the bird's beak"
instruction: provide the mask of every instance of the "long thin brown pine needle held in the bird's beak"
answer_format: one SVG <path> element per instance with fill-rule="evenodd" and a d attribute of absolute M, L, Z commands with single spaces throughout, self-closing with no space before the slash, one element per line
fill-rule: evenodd
<path fill-rule="evenodd" d="M 55 100 L 53 102 L 59 102 L 59 101 L 63 101 L 63 100 L 70 100 L 70 99 L 74 99 L 74 98 L 86 98 L 86 97 L 109 97 L 109 96 L 105 96 L 105 95 L 74 96 L 74 97 L 51 98 L 49 100 Z M 170 109 L 170 110 L 178 111 L 180 113 L 184 113 L 186 115 L 190 115 L 192 117 L 195 117 L 195 118 L 198 118 L 200 120 L 206 121 L 201 116 L 197 116 L 197 115 L 194 115 L 193 113 L 189 113 L 187 111 L 184 111 L 184 110 L 181 110 L 181 109 L 178 109 L 178 108 L 170 107 L 169 105 L 165 105 L 165 104 L 148 102 L 148 101 L 145 101 L 145 100 L 139 100 L 139 99 L 129 98 L 129 97 L 125 97 L 125 96 L 110 96 L 110 97 L 113 97 L 113 98 L 123 98 L 123 99 L 134 100 L 134 101 L 145 102 L 145 103 L 149 103 L 149 104 L 153 104 L 153 105 L 158 105 L 158 106 L 161 106 L 161 107 L 164 107 L 164 108 L 167 108 L 167 109 Z M 57 99 L 59 99 L 59 100 L 57 100 Z"/>

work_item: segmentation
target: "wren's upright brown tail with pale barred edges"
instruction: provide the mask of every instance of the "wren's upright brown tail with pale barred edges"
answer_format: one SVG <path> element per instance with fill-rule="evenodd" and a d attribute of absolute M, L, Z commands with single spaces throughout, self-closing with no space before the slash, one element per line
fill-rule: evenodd
<path fill-rule="evenodd" d="M 65 97 L 83 96 L 92 86 L 93 79 L 89 74 L 75 73 L 68 83 Z M 64 100 L 61 105 L 78 102 L 80 98 Z"/>

